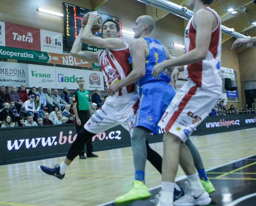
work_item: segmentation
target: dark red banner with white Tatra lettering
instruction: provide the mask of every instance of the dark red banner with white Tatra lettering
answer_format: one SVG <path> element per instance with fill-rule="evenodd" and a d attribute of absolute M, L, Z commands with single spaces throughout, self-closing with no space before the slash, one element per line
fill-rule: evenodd
<path fill-rule="evenodd" d="M 7 47 L 40 51 L 40 29 L 6 22 L 5 45 Z"/>

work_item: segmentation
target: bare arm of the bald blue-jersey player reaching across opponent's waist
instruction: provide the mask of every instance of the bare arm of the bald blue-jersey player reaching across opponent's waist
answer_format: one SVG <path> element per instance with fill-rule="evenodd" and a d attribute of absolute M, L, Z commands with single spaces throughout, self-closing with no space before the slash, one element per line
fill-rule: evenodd
<path fill-rule="evenodd" d="M 132 72 L 125 79 L 113 84 L 108 88 L 108 95 L 113 96 L 120 88 L 133 84 L 145 76 L 146 56 L 148 47 L 143 39 L 134 40 L 131 45 L 132 50 Z"/>

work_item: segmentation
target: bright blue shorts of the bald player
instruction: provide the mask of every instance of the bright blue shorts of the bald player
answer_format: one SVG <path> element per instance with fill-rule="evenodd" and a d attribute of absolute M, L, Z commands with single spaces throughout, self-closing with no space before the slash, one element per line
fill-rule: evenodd
<path fill-rule="evenodd" d="M 135 117 L 135 126 L 143 126 L 159 134 L 158 122 L 164 115 L 175 90 L 164 81 L 143 84 L 139 91 L 140 103 Z"/>

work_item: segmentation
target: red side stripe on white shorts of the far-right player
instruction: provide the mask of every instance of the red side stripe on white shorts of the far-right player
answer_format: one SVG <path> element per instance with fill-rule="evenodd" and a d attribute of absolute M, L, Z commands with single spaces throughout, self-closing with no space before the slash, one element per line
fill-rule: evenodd
<path fill-rule="evenodd" d="M 184 109 L 184 107 L 187 105 L 188 101 L 190 100 L 190 98 L 196 94 L 196 89 L 197 89 L 197 85 L 194 87 L 191 87 L 188 91 L 188 94 L 186 94 L 183 99 L 181 100 L 180 104 L 179 104 L 179 110 L 175 111 L 171 117 L 171 119 L 169 120 L 169 122 L 167 123 L 165 130 L 170 130 L 172 125 L 174 124 L 174 122 L 176 121 L 176 119 L 179 117 L 180 113 L 182 112 L 182 110 Z"/>

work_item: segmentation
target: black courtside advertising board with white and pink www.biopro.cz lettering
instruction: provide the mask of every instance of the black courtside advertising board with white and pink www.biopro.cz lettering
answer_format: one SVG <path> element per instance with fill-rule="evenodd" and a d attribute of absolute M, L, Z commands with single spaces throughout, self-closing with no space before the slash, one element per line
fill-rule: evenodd
<path fill-rule="evenodd" d="M 256 127 L 256 114 L 208 117 L 193 135 L 215 134 Z M 0 165 L 66 156 L 76 139 L 74 125 L 1 128 Z M 162 141 L 159 135 L 150 134 L 149 143 Z M 94 151 L 131 146 L 130 134 L 120 125 L 92 138 Z"/>

